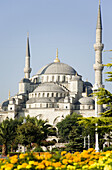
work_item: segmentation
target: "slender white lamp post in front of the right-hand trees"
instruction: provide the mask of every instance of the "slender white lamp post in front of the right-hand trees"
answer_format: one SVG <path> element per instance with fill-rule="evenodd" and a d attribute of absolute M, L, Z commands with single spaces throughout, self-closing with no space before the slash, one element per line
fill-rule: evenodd
<path fill-rule="evenodd" d="M 96 83 L 93 87 L 94 92 L 98 91 L 98 84 Z M 95 96 L 95 117 L 98 117 L 98 104 L 97 104 L 98 98 Z M 96 132 L 95 132 L 95 150 L 96 152 L 99 152 L 99 143 L 98 143 L 98 129 L 97 129 L 97 123 L 96 123 Z"/>

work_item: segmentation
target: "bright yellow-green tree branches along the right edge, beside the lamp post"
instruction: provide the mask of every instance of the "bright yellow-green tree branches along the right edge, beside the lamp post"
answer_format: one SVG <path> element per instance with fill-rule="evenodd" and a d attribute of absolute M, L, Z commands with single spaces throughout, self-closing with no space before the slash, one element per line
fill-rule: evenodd
<path fill-rule="evenodd" d="M 105 64 L 104 66 L 111 68 L 112 63 Z M 106 81 L 112 82 L 112 71 L 108 71 L 106 72 L 106 74 L 108 75 Z M 94 96 L 97 96 L 97 103 L 99 105 L 105 105 L 105 109 L 103 110 L 103 113 L 100 113 L 100 117 L 90 118 L 90 123 L 94 122 L 95 125 L 97 124 L 101 148 L 101 146 L 105 142 L 105 135 L 107 136 L 107 140 L 109 141 L 109 143 L 110 141 L 112 142 L 112 138 L 110 136 L 112 132 L 112 93 L 106 90 L 105 88 L 99 88 L 99 91 L 94 93 Z"/>

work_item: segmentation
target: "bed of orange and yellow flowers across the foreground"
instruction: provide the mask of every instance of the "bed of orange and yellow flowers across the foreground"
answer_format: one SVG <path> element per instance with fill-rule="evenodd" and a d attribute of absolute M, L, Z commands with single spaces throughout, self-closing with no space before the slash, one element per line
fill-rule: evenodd
<path fill-rule="evenodd" d="M 112 151 L 95 152 L 94 149 L 84 150 L 82 153 L 55 154 L 25 153 L 8 159 L 0 159 L 0 170 L 112 170 Z"/>

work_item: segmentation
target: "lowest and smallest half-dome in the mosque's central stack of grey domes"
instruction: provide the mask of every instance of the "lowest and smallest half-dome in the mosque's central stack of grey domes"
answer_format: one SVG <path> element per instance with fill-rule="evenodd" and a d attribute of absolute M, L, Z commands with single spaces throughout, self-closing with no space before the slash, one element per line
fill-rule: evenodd
<path fill-rule="evenodd" d="M 27 101 L 27 104 L 31 103 L 52 103 L 49 98 L 31 98 Z"/>

